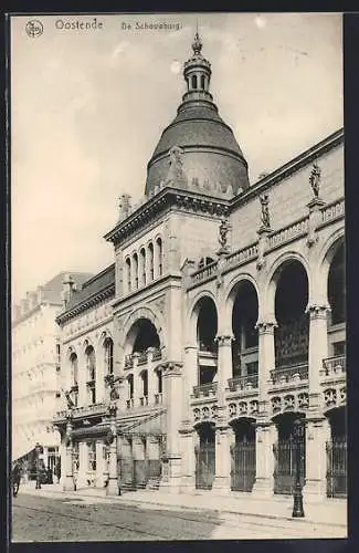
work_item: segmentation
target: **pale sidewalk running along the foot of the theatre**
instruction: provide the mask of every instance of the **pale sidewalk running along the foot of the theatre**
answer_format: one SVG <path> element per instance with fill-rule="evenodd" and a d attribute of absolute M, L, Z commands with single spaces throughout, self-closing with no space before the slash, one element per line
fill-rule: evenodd
<path fill-rule="evenodd" d="M 108 497 L 105 489 L 85 488 L 78 491 L 64 492 L 60 484 L 44 484 L 35 490 L 34 482 L 22 484 L 20 493 L 30 493 L 49 498 L 97 499 L 104 502 L 119 502 L 131 505 L 154 505 L 167 509 L 191 509 L 194 511 L 211 510 L 221 514 L 241 514 L 268 520 L 291 520 L 300 523 L 324 524 L 336 528 L 347 526 L 346 500 L 326 500 L 318 504 L 304 504 L 305 518 L 293 519 L 292 498 L 256 499 L 241 492 L 229 492 L 228 495 L 214 494 L 212 491 L 193 493 L 166 493 L 163 491 L 138 490 L 126 492 L 120 497 Z"/>

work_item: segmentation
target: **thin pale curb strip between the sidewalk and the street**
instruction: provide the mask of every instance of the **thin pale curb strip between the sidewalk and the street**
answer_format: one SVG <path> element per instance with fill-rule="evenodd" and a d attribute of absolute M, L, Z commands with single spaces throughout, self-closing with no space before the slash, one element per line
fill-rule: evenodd
<path fill-rule="evenodd" d="M 23 493 L 27 493 L 28 495 L 39 495 L 38 492 L 35 492 L 35 490 L 23 490 L 22 491 Z M 212 511 L 213 513 L 217 513 L 217 514 L 223 514 L 223 513 L 226 513 L 226 514 L 234 514 L 234 515 L 241 515 L 241 517 L 252 517 L 252 518 L 257 518 L 257 519 L 267 519 L 267 520 L 285 520 L 285 521 L 296 521 L 296 522 L 299 522 L 302 524 L 317 524 L 317 525 L 323 525 L 323 526 L 331 526 L 331 528 L 340 528 L 340 529 L 347 529 L 347 524 L 342 524 L 342 523 L 332 523 L 332 522 L 318 522 L 318 521 L 315 521 L 313 519 L 307 519 L 307 518 L 303 518 L 303 519 L 293 519 L 292 517 L 289 515 L 282 515 L 282 514 L 268 514 L 268 513 L 265 513 L 265 514 L 262 514 L 262 513 L 249 513 L 249 512 L 245 512 L 245 511 L 232 511 L 231 509 L 225 509 L 225 508 L 222 508 L 221 510 L 220 509 L 213 509 L 213 508 L 201 508 L 201 507 L 190 507 L 190 505 L 183 505 L 183 504 L 176 504 L 176 505 L 172 505 L 172 504 L 168 504 L 168 503 L 161 503 L 159 501 L 146 501 L 146 500 L 138 500 L 136 501 L 135 499 L 126 499 L 126 494 L 125 495 L 96 495 L 96 494 L 86 494 L 86 493 L 81 493 L 81 494 L 76 494 L 74 495 L 74 492 L 70 491 L 68 493 L 66 492 L 63 492 L 62 490 L 61 491 L 50 491 L 50 492 L 46 492 L 45 494 L 41 494 L 42 497 L 46 497 L 49 494 L 64 494 L 65 497 L 71 497 L 71 499 L 82 499 L 82 498 L 88 498 L 88 499 L 96 499 L 96 498 L 99 498 L 101 500 L 105 500 L 106 502 L 116 502 L 116 503 L 123 503 L 123 504 L 128 504 L 128 505 L 136 505 L 136 507 L 139 507 L 141 504 L 144 505 L 154 505 L 154 507 L 167 507 L 167 508 L 173 508 L 173 509 L 183 509 L 183 510 L 188 510 L 188 511 L 196 511 L 196 512 L 202 512 L 203 510 L 208 509 L 209 511 Z M 119 499 L 120 498 L 120 499 Z"/>

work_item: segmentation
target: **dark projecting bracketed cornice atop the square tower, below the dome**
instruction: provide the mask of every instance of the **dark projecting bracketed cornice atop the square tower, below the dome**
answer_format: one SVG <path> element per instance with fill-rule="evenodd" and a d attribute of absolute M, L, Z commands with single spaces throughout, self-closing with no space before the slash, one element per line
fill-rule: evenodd
<path fill-rule="evenodd" d="M 149 198 L 146 204 L 141 205 L 127 219 L 116 225 L 104 238 L 108 242 L 118 244 L 119 241 L 130 236 L 137 229 L 142 228 L 144 225 L 150 222 L 171 207 L 177 207 L 189 212 L 201 212 L 220 217 L 228 215 L 229 200 L 167 186 L 156 196 Z"/>

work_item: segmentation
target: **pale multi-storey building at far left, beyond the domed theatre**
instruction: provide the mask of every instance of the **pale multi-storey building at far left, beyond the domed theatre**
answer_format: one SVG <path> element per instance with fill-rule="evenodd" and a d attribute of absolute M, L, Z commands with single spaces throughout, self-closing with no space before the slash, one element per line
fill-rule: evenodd
<path fill-rule="evenodd" d="M 52 425 L 61 406 L 61 340 L 55 319 L 63 309 L 65 276 L 60 273 L 28 292 L 12 310 L 12 459 L 27 461 L 25 473 L 34 472 L 36 444 L 42 446 L 45 468 L 53 469 L 59 458 L 60 435 Z M 89 275 L 74 276 L 81 285 Z"/>

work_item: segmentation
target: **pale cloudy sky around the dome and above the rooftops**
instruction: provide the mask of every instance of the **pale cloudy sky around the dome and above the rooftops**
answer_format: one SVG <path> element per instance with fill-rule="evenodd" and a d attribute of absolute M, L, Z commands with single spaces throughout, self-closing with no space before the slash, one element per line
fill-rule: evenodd
<path fill-rule="evenodd" d="M 97 29 L 60 29 L 94 18 Z M 340 14 L 35 19 L 36 38 L 25 32 L 28 15 L 11 19 L 14 303 L 61 271 L 96 273 L 113 262 L 103 236 L 117 221 L 119 196 L 144 195 L 147 163 L 184 92 L 197 20 L 211 93 L 251 184 L 342 126 Z"/>

